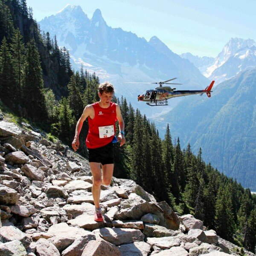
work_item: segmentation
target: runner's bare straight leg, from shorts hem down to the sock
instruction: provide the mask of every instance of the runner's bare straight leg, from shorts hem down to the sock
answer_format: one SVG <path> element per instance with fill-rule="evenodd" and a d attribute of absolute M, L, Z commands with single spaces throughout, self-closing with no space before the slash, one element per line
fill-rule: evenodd
<path fill-rule="evenodd" d="M 100 186 L 102 184 L 102 171 L 100 163 L 90 162 L 90 169 L 93 175 L 93 201 L 96 208 L 99 208 Z"/>

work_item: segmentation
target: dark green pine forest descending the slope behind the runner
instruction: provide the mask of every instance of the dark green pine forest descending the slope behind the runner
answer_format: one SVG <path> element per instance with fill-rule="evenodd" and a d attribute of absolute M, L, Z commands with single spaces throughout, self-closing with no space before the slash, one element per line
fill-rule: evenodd
<path fill-rule="evenodd" d="M 47 124 L 48 132 L 70 145 L 84 107 L 99 100 L 99 78 L 83 66 L 72 70 L 68 50 L 58 47 L 56 36 L 51 39 L 48 32 L 41 33 L 36 22 L 34 33 L 24 38 L 13 23 L 9 2 L 23 17 L 32 19 L 25 0 L 0 1 L 0 99 L 20 116 Z M 40 44 L 59 64 L 56 75 L 67 89 L 59 100 L 53 90 L 44 87 Z M 114 175 L 135 180 L 157 201 L 167 201 L 180 214 L 195 215 L 222 238 L 255 252 L 256 197 L 250 189 L 205 163 L 201 149 L 197 155 L 190 145 L 181 149 L 169 125 L 161 140 L 154 123 L 139 109 L 134 110 L 123 97 L 113 97 L 113 101 L 120 105 L 126 133 L 126 144 L 115 147 Z M 80 153 L 85 156 L 87 131 L 85 121 L 80 133 Z"/>

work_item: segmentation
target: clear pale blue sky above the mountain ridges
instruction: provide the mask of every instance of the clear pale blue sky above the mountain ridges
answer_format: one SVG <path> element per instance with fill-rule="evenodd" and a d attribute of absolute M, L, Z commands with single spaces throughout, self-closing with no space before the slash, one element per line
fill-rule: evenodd
<path fill-rule="evenodd" d="M 67 4 L 89 18 L 100 9 L 108 26 L 146 40 L 155 35 L 177 54 L 216 57 L 232 37 L 256 41 L 255 0 L 27 0 L 38 21 Z"/>

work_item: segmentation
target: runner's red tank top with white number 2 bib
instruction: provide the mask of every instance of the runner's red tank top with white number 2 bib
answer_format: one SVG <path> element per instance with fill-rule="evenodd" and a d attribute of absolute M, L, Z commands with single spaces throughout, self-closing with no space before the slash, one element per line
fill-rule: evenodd
<path fill-rule="evenodd" d="M 111 143 L 116 134 L 116 103 L 110 102 L 108 108 L 100 107 L 99 102 L 93 103 L 92 106 L 95 116 L 93 119 L 88 117 L 89 131 L 86 146 L 100 148 Z"/>

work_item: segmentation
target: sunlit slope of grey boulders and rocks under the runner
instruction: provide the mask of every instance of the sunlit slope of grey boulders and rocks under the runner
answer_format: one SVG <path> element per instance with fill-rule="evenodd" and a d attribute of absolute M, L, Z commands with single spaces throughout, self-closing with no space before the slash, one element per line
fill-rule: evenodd
<path fill-rule="evenodd" d="M 133 180 L 102 186 L 105 220 L 94 221 L 87 160 L 27 126 L 0 121 L 0 256 L 237 255 Z"/>

